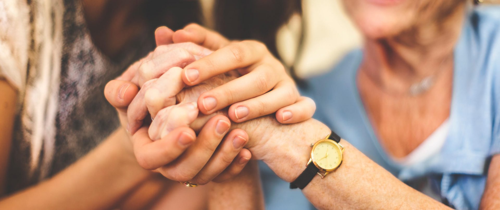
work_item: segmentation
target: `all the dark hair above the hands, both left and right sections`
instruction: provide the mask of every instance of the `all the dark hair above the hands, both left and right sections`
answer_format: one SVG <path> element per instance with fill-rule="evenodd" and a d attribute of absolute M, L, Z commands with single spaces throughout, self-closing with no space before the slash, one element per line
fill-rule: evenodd
<path fill-rule="evenodd" d="M 167 25 L 175 30 L 190 22 L 202 23 L 198 0 L 149 0 L 147 5 L 144 13 L 154 26 Z M 276 32 L 293 14 L 302 14 L 301 0 L 215 0 L 213 29 L 229 39 L 262 41 L 280 59 L 276 48 Z M 301 26 L 295 60 L 298 60 L 303 45 L 303 21 Z M 290 70 L 292 77 L 297 78 L 293 64 L 285 67 Z"/>

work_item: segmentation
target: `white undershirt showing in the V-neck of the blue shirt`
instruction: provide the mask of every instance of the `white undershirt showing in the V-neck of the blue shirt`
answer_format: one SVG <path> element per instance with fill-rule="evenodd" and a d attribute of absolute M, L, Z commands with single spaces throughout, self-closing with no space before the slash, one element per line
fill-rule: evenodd
<path fill-rule="evenodd" d="M 444 120 L 432 134 L 405 157 L 394 158 L 401 165 L 412 165 L 422 162 L 441 150 L 449 130 L 448 119 Z"/>

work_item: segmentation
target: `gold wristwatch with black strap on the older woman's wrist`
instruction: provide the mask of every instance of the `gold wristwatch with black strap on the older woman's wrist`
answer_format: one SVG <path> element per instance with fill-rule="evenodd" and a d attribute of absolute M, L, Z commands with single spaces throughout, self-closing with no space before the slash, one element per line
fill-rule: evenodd
<path fill-rule="evenodd" d="M 331 131 L 324 139 L 311 143 L 309 162 L 307 162 L 305 170 L 290 183 L 290 188 L 303 189 L 314 178 L 314 175 L 318 174 L 324 178 L 326 174 L 336 170 L 342 163 L 344 150 L 339 142 L 340 136 Z"/>

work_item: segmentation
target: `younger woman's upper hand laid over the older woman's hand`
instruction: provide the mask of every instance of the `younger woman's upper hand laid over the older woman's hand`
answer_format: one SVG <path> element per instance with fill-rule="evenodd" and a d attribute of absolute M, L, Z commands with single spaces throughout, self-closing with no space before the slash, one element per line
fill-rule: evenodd
<path fill-rule="evenodd" d="M 228 105 L 235 122 L 276 112 L 281 123 L 312 117 L 314 101 L 299 95 L 283 65 L 258 41 L 229 41 L 197 24 L 189 24 L 172 35 L 174 43 L 194 42 L 215 50 L 183 67 L 182 80 L 197 85 L 215 75 L 237 69 L 242 75 L 200 95 L 200 111 L 210 114 Z"/>

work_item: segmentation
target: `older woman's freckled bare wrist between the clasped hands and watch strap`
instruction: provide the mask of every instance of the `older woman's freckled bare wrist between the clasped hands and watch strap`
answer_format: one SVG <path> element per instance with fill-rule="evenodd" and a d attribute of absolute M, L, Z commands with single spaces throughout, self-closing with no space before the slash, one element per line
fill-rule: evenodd
<path fill-rule="evenodd" d="M 243 128 L 250 137 L 248 149 L 281 179 L 291 182 L 304 170 L 310 158 L 309 145 L 324 138 L 330 129 L 315 119 L 281 124 L 272 116 L 266 117 L 271 119 L 257 122 L 258 129 Z"/>

